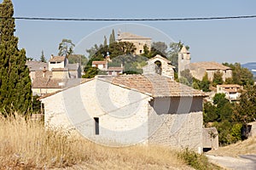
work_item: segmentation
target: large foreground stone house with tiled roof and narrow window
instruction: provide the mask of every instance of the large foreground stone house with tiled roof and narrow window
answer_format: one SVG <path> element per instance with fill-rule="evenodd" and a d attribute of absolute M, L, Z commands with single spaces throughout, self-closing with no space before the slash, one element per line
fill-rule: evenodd
<path fill-rule="evenodd" d="M 171 78 L 148 74 L 96 77 L 40 100 L 46 127 L 77 129 L 96 143 L 201 151 L 205 96 Z"/>

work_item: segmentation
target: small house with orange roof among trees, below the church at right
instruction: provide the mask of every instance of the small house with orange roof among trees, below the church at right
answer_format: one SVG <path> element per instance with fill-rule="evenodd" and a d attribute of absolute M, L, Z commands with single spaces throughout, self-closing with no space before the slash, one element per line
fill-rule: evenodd
<path fill-rule="evenodd" d="M 242 89 L 242 86 L 238 84 L 221 84 L 217 85 L 217 94 L 225 94 L 226 99 L 236 101 L 239 99 Z"/>

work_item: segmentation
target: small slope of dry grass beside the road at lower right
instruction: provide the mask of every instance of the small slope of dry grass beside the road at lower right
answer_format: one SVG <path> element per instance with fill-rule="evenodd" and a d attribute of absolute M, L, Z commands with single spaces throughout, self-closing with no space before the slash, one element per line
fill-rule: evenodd
<path fill-rule="evenodd" d="M 228 146 L 221 147 L 218 150 L 209 151 L 207 153 L 218 156 L 256 154 L 256 136 L 244 141 L 239 141 L 236 144 L 230 144 Z"/>

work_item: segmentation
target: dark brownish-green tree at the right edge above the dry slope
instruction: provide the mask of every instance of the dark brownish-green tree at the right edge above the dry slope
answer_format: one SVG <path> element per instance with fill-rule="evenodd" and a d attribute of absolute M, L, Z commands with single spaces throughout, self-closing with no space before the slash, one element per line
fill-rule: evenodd
<path fill-rule="evenodd" d="M 244 91 L 235 105 L 234 120 L 236 122 L 247 123 L 256 121 L 256 85 Z"/>

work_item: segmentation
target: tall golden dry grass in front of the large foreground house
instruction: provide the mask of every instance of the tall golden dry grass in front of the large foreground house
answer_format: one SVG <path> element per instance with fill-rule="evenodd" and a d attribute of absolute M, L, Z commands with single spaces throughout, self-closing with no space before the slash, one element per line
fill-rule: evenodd
<path fill-rule="evenodd" d="M 109 148 L 0 116 L 0 169 L 189 169 L 177 152 L 159 146 Z"/>

